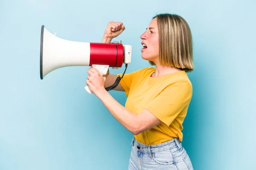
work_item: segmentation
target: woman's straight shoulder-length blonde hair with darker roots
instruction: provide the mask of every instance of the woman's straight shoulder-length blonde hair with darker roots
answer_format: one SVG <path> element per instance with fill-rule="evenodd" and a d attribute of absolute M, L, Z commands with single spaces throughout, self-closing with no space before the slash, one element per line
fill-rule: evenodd
<path fill-rule="evenodd" d="M 158 14 L 154 18 L 159 30 L 160 64 L 186 72 L 194 70 L 192 34 L 186 20 L 176 14 Z"/>

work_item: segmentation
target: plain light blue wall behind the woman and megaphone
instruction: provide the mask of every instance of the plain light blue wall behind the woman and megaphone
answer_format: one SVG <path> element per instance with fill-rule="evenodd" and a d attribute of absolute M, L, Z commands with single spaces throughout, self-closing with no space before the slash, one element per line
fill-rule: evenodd
<path fill-rule="evenodd" d="M 89 67 L 40 79 L 41 25 L 57 37 L 101 42 L 109 21 L 132 45 L 127 72 L 148 67 L 140 35 L 160 13 L 192 30 L 193 97 L 183 147 L 195 170 L 251 170 L 256 158 L 255 0 L 0 0 L 0 170 L 125 170 L 132 134 L 84 90 Z M 124 67 L 111 70 L 122 73 Z M 126 96 L 111 91 L 122 105 Z"/>

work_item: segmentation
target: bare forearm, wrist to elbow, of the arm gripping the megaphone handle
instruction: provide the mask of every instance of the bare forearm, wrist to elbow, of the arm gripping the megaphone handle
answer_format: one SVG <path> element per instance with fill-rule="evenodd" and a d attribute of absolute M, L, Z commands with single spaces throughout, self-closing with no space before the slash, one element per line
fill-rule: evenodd
<path fill-rule="evenodd" d="M 114 118 L 134 135 L 140 132 L 139 116 L 119 104 L 107 91 L 97 95 Z"/>

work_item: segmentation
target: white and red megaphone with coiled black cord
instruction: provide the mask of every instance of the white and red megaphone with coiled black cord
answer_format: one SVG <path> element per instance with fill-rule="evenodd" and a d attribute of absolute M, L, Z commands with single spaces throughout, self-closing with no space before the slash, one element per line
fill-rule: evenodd
<path fill-rule="evenodd" d="M 92 66 L 100 74 L 106 75 L 108 68 L 120 68 L 131 63 L 131 45 L 122 45 L 122 42 L 76 42 L 64 40 L 51 34 L 44 25 L 41 27 L 40 45 L 40 78 L 55 69 L 68 66 Z M 124 72 L 125 74 L 125 72 Z M 114 86 L 121 80 L 118 77 Z M 115 88 L 111 86 L 106 90 Z M 93 94 L 86 86 L 85 90 Z"/>

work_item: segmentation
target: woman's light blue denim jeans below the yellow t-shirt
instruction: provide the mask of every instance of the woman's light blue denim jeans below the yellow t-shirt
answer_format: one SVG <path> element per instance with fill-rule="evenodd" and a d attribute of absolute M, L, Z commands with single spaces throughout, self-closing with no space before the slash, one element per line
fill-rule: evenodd
<path fill-rule="evenodd" d="M 133 138 L 128 169 L 193 170 L 193 167 L 186 150 L 177 138 L 155 145 L 145 145 Z"/>

